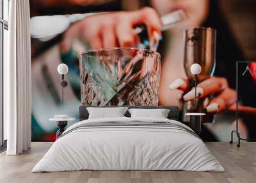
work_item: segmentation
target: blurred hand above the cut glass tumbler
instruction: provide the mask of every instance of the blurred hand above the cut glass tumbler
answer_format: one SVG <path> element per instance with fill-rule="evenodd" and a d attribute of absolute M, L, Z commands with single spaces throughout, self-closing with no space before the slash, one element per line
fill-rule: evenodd
<path fill-rule="evenodd" d="M 161 21 L 156 10 L 142 8 L 134 12 L 113 12 L 91 15 L 74 23 L 63 35 L 60 48 L 69 51 L 72 40 L 88 42 L 92 49 L 110 47 L 134 47 L 140 41 L 134 26 L 145 24 L 150 40 L 159 40 Z"/>

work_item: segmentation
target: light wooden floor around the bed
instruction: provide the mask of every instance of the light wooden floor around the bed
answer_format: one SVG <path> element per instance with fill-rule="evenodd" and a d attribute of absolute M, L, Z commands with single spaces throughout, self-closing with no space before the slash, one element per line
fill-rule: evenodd
<path fill-rule="evenodd" d="M 32 143 L 31 150 L 17 156 L 0 154 L 0 182 L 256 182 L 256 143 L 206 143 L 225 172 L 194 171 L 65 171 L 31 173 L 52 143 Z"/>

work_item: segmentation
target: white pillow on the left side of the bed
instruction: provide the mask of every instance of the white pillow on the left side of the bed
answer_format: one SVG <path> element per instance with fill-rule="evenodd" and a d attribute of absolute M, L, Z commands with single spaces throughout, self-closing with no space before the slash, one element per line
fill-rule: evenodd
<path fill-rule="evenodd" d="M 125 117 L 124 114 L 128 107 L 86 107 L 89 113 L 89 119 L 95 118 L 120 118 Z"/>

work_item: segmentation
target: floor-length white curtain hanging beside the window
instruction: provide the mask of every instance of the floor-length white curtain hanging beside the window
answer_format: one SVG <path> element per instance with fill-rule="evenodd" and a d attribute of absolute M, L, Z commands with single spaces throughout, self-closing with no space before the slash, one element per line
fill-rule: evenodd
<path fill-rule="evenodd" d="M 31 143 L 29 0 L 10 1 L 8 61 L 4 63 L 4 120 L 8 155 L 18 155 Z"/>

